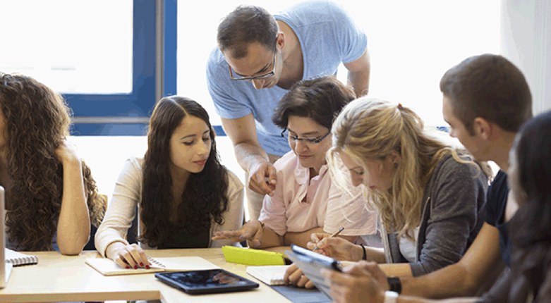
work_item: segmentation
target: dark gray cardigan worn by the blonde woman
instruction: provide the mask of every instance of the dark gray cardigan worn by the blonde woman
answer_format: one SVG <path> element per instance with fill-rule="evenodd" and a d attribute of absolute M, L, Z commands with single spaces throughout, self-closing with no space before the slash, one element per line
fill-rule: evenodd
<path fill-rule="evenodd" d="M 484 222 L 487 190 L 488 178 L 473 164 L 459 163 L 451 155 L 437 163 L 423 194 L 416 261 L 410 263 L 413 276 L 461 259 Z M 397 234 L 386 235 L 382 241 L 387 263 L 408 262 L 400 253 Z"/>

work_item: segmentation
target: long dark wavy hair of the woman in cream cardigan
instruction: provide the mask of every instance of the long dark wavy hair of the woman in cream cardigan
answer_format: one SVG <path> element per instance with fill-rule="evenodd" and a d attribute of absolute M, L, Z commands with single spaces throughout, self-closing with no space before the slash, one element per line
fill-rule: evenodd
<path fill-rule="evenodd" d="M 150 247 L 159 246 L 168 237 L 170 203 L 173 199 L 170 138 L 186 116 L 194 116 L 207 123 L 212 145 L 205 168 L 200 173 L 192 173 L 186 183 L 182 202 L 178 206 L 178 225 L 187 235 L 195 235 L 210 226 L 211 220 L 222 224 L 222 213 L 228 208 L 228 175 L 218 157 L 214 129 L 207 111 L 188 98 L 164 97 L 159 100 L 150 118 L 143 165 L 140 216 L 144 233 L 140 241 Z"/>

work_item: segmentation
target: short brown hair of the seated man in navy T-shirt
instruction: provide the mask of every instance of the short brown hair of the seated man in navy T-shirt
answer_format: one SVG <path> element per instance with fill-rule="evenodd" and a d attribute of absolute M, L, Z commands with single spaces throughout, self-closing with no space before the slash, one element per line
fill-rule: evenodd
<path fill-rule="evenodd" d="M 521 70 L 503 56 L 466 58 L 444 73 L 440 91 L 471 134 L 477 117 L 509 132 L 517 132 L 532 117 L 528 83 Z"/>

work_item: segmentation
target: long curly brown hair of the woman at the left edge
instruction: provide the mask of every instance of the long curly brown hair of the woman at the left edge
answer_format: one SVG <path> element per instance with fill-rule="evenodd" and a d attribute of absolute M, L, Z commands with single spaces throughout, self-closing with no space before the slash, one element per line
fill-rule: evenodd
<path fill-rule="evenodd" d="M 63 194 L 63 166 L 55 150 L 68 135 L 70 110 L 63 98 L 25 75 L 0 73 L 4 116 L 3 163 L 13 186 L 6 190 L 8 239 L 20 250 L 52 250 Z M 106 201 L 90 168 L 83 179 L 92 224 L 101 223 Z"/>

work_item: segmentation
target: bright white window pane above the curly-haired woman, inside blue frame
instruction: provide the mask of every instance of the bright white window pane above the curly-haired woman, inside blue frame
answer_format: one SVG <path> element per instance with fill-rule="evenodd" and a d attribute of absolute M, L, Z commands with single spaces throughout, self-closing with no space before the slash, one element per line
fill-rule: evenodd
<path fill-rule="evenodd" d="M 128 94 L 132 17 L 131 0 L 3 1 L 0 71 L 63 93 Z"/>

